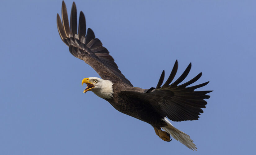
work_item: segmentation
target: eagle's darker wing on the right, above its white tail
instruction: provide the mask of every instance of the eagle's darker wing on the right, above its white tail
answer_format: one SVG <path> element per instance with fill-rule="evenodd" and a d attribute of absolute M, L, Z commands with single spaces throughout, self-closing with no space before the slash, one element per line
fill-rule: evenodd
<path fill-rule="evenodd" d="M 143 91 L 139 88 L 135 90 L 128 88 L 125 93 L 143 99 L 145 102 L 151 104 L 161 116 L 168 117 L 172 121 L 198 120 L 200 113 L 203 113 L 201 108 L 205 108 L 207 104 L 204 99 L 210 98 L 206 94 L 212 91 L 194 90 L 207 85 L 209 82 L 187 87 L 202 76 L 202 73 L 199 73 L 195 78 L 178 86 L 188 75 L 191 69 L 190 63 L 184 73 L 175 82 L 170 84 L 177 73 L 177 69 L 178 62 L 176 60 L 173 70 L 163 86 L 161 85 L 164 81 L 164 71 L 156 88 L 145 89 Z"/>

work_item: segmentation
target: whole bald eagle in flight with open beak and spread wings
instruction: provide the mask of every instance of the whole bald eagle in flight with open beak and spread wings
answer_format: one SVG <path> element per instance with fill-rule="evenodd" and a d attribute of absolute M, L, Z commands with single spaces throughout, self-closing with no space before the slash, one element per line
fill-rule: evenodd
<path fill-rule="evenodd" d="M 180 84 L 191 69 L 190 63 L 182 75 L 171 83 L 178 69 L 176 60 L 173 70 L 164 84 L 163 71 L 155 88 L 133 87 L 118 69 L 114 59 L 109 55 L 109 51 L 102 46 L 98 38 L 95 38 L 92 29 L 88 28 L 86 33 L 85 17 L 82 11 L 79 15 L 77 32 L 75 3 L 73 2 L 71 9 L 70 25 L 64 1 L 61 13 L 62 22 L 57 14 L 57 28 L 62 41 L 69 47 L 73 56 L 89 64 L 101 77 L 84 78 L 82 85 L 85 83 L 87 87 L 83 92 L 92 91 L 108 101 L 119 112 L 149 123 L 153 126 L 156 135 L 164 141 L 171 141 L 171 135 L 188 148 L 196 150 L 196 145 L 190 136 L 175 128 L 167 118 L 172 121 L 198 120 L 200 113 L 203 113 L 201 108 L 205 108 L 207 104 L 204 99 L 210 97 L 206 94 L 211 91 L 195 91 L 195 89 L 203 87 L 209 82 L 195 86 L 189 85 L 196 82 L 202 73 L 190 81 Z"/>

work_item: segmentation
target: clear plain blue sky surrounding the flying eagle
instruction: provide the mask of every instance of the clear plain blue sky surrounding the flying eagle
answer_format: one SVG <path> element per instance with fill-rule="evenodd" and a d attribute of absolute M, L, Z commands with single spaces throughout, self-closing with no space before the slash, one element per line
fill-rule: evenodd
<path fill-rule="evenodd" d="M 70 15 L 72 1 L 65 1 Z M 61 41 L 61 1 L 0 1 L 0 154 L 254 154 L 256 1 L 76 1 L 134 86 L 155 87 L 177 59 L 185 82 L 213 90 L 197 121 L 172 122 L 193 152 L 115 110 L 83 78 L 99 77 Z M 176 77 L 177 79 L 177 77 Z"/>

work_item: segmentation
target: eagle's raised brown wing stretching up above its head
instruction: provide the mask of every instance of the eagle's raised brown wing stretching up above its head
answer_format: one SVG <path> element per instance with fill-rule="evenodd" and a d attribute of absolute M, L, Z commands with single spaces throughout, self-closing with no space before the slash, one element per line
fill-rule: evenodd
<path fill-rule="evenodd" d="M 70 53 L 89 64 L 102 79 L 121 81 L 132 86 L 131 82 L 127 80 L 118 69 L 114 59 L 109 55 L 109 51 L 102 46 L 98 38 L 95 38 L 92 29 L 88 28 L 86 34 L 85 17 L 82 11 L 79 16 L 77 33 L 77 12 L 75 3 L 73 2 L 71 9 L 70 26 L 64 1 L 62 1 L 61 14 L 62 22 L 59 14 L 57 14 L 57 28 L 62 41 L 69 46 Z"/>

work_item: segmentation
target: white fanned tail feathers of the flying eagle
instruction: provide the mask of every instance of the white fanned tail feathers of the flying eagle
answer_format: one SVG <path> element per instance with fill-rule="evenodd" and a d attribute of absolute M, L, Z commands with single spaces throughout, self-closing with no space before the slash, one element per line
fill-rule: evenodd
<path fill-rule="evenodd" d="M 197 148 L 195 147 L 196 145 L 193 143 L 193 140 L 190 139 L 189 135 L 175 128 L 166 117 L 162 120 L 168 124 L 168 126 L 162 127 L 164 131 L 168 132 L 168 134 L 170 134 L 174 139 L 186 145 L 186 147 L 193 151 L 197 151 Z"/>

